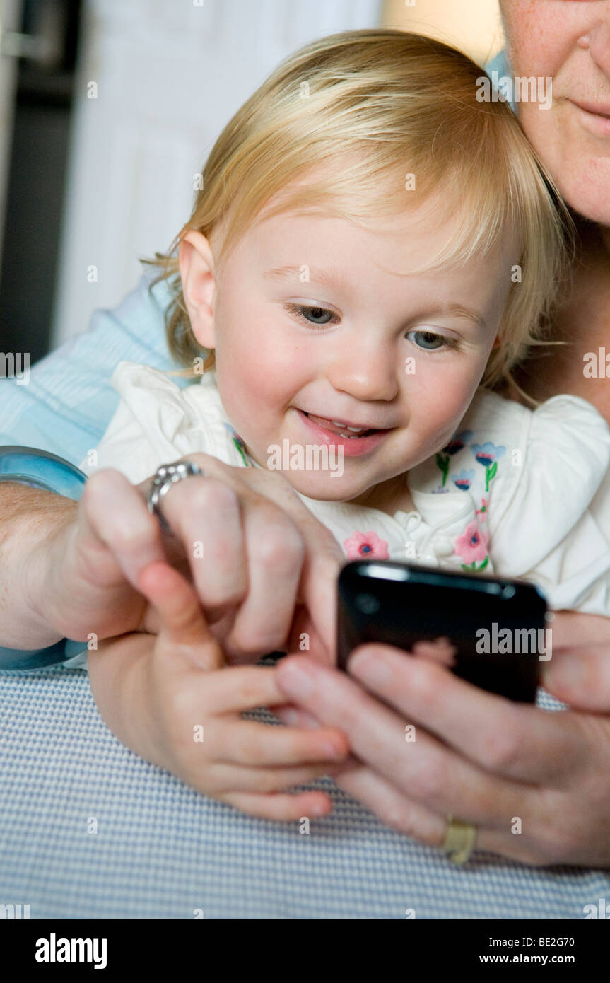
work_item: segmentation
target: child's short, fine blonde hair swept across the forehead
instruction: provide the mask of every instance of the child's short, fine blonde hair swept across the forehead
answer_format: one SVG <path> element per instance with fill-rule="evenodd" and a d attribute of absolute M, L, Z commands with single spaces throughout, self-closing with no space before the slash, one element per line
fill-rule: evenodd
<path fill-rule="evenodd" d="M 175 375 L 195 376 L 205 351 L 173 255 L 190 230 L 208 237 L 226 223 L 214 256 L 220 265 L 263 212 L 320 209 L 365 224 L 440 191 L 447 216 L 458 212 L 463 223 L 434 266 L 484 258 L 507 227 L 516 237 L 522 279 L 517 273 L 511 284 L 499 346 L 481 380 L 516 385 L 511 369 L 530 345 L 554 343 L 545 339 L 574 238 L 569 212 L 509 106 L 477 101 L 482 78 L 457 49 L 395 29 L 332 34 L 282 62 L 218 137 L 191 217 L 167 253 L 140 260 L 162 270 L 150 286 L 165 279 L 172 293 L 168 347 L 190 367 Z M 325 174 L 306 180 L 325 163 Z M 406 190 L 409 174 L 416 190 Z M 212 352 L 204 371 L 213 365 Z"/>

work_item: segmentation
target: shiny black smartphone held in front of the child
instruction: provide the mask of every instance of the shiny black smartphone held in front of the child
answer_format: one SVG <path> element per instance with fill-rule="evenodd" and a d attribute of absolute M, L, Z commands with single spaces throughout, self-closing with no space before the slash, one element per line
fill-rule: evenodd
<path fill-rule="evenodd" d="M 533 584 L 393 560 L 343 567 L 337 636 L 340 668 L 366 642 L 410 651 L 427 642 L 462 679 L 524 703 L 534 702 L 539 662 L 552 651 Z"/>

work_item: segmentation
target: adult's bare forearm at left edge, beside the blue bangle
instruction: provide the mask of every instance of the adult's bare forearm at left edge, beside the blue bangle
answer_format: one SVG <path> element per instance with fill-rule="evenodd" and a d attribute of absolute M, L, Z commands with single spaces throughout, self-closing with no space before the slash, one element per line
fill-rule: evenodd
<path fill-rule="evenodd" d="M 77 508 L 63 495 L 0 482 L 0 646 L 38 649 L 63 637 L 40 601 L 52 545 Z"/>

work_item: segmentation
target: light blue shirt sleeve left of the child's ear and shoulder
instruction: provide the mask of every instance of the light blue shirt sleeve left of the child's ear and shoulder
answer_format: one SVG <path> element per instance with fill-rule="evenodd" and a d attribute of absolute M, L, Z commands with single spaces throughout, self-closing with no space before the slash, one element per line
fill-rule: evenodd
<path fill-rule="evenodd" d="M 99 443 L 119 403 L 110 377 L 123 359 L 175 370 L 167 350 L 164 313 L 171 300 L 164 280 L 147 267 L 114 310 L 94 311 L 88 329 L 36 362 L 29 377 L 0 382 L 0 446 L 51 451 L 73 464 Z M 188 380 L 173 376 L 181 388 Z"/>

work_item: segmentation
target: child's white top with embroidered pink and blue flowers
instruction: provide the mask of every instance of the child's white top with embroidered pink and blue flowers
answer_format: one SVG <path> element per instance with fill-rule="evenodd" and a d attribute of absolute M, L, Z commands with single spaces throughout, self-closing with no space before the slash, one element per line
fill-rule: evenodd
<path fill-rule="evenodd" d="M 98 444 L 97 468 L 139 483 L 196 451 L 258 467 L 224 411 L 214 371 L 180 388 L 121 362 L 121 402 Z M 578 396 L 534 411 L 479 389 L 452 441 L 407 478 L 415 511 L 390 516 L 300 494 L 346 558 L 410 559 L 537 584 L 555 609 L 610 616 L 610 430 Z M 87 460 L 81 468 L 91 474 Z"/>

